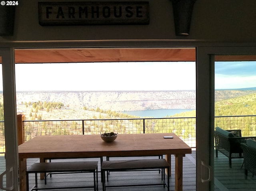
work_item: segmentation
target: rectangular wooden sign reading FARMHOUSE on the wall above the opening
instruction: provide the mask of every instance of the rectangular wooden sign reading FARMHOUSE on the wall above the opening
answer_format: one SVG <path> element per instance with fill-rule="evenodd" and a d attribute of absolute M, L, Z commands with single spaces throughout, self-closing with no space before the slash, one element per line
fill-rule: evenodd
<path fill-rule="evenodd" d="M 38 2 L 39 24 L 149 24 L 148 2 Z"/>

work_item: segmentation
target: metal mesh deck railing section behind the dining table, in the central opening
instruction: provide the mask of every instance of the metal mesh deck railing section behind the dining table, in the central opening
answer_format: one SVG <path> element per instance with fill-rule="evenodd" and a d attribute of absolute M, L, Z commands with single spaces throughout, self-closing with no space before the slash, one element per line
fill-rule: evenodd
<path fill-rule="evenodd" d="M 195 147 L 196 118 L 133 118 L 89 120 L 24 121 L 24 141 L 38 135 L 82 135 L 115 132 L 118 134 L 173 132 Z"/>

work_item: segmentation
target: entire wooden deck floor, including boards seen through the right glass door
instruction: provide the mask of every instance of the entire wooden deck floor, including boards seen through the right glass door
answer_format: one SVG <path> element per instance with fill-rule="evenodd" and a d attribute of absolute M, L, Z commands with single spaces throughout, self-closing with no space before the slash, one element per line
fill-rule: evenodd
<path fill-rule="evenodd" d="M 116 158 L 117 159 L 117 158 Z M 126 158 L 120 158 L 126 159 Z M 134 159 L 134 158 L 133 158 Z M 72 161 L 74 159 L 66 159 Z M 76 159 L 76 161 L 83 160 L 99 160 L 99 159 Z M 0 166 L 5 163 L 3 157 L 0 157 Z M 172 156 L 172 175 L 170 177 L 170 190 L 174 190 L 174 157 Z M 186 154 L 183 158 L 183 191 L 196 191 L 196 152 L 192 151 L 192 154 Z M 28 167 L 34 162 L 39 162 L 38 159 L 28 159 Z M 255 191 L 256 190 L 256 177 L 252 177 L 248 173 L 247 179 L 244 176 L 244 168 L 242 166 L 243 159 L 233 159 L 232 168 L 228 166 L 228 158 L 219 154 L 218 158 L 215 158 L 215 191 Z M 99 162 L 100 164 L 100 162 Z M 100 169 L 100 166 L 99 166 Z M 0 167 L 1 171 L 4 168 Z M 34 185 L 35 177 L 30 175 L 30 188 Z M 52 177 L 47 177 L 47 185 L 92 185 L 92 174 L 90 173 L 79 173 L 79 174 L 56 174 Z M 130 172 L 111 172 L 109 181 L 113 183 L 152 183 L 161 182 L 161 174 L 157 171 L 130 171 Z M 44 187 L 44 180 L 38 180 L 39 187 Z M 56 189 L 54 189 L 56 191 Z M 70 191 L 70 189 L 61 189 L 62 191 Z M 78 190 L 93 190 L 88 189 L 72 189 L 73 191 Z M 99 190 L 102 190 L 102 183 L 100 181 L 99 173 Z M 114 187 L 107 188 L 107 191 L 167 191 L 166 187 L 160 186 L 143 186 L 143 187 Z M 48 191 L 53 191 L 49 189 Z"/>

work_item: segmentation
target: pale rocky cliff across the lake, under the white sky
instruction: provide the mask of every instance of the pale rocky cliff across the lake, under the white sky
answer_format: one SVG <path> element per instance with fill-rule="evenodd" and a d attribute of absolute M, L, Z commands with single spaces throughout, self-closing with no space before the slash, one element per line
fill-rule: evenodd
<path fill-rule="evenodd" d="M 97 108 L 113 111 L 194 109 L 196 91 L 42 91 L 17 92 L 21 102 L 62 102 L 69 108 Z"/>

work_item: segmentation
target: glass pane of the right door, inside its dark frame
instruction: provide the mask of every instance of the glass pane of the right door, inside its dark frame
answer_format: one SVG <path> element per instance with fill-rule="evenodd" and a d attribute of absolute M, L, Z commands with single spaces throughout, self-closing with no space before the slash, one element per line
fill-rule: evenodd
<path fill-rule="evenodd" d="M 250 164 L 244 165 L 241 142 L 256 140 L 256 56 L 216 55 L 214 89 L 214 188 L 254 191 L 256 162 L 246 176 Z M 228 138 L 235 136 L 240 138 Z M 255 156 L 256 152 L 251 156 L 254 161 Z"/>

